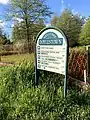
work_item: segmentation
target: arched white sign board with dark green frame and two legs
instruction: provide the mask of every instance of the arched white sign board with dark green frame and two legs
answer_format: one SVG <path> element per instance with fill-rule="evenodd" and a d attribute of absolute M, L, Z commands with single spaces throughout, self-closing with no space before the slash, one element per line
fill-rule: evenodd
<path fill-rule="evenodd" d="M 64 97 L 67 94 L 68 39 L 62 30 L 46 27 L 37 36 L 35 50 L 35 83 L 38 84 L 38 70 L 46 70 L 65 76 Z"/>

